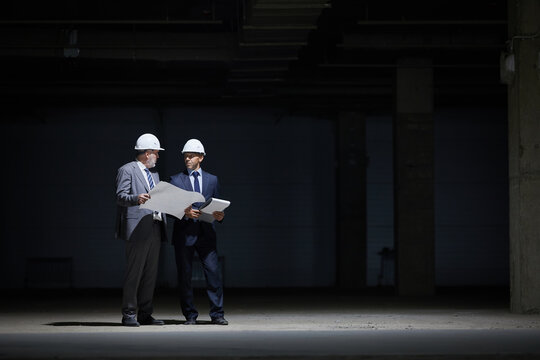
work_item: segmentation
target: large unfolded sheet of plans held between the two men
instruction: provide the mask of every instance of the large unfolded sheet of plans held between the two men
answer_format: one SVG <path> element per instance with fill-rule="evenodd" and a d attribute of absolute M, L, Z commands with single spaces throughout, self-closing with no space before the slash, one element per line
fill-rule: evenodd
<path fill-rule="evenodd" d="M 182 219 L 184 210 L 195 202 L 204 202 L 204 196 L 194 191 L 186 191 L 166 181 L 160 181 L 150 192 L 150 200 L 140 205 L 141 209 L 160 211 Z"/>

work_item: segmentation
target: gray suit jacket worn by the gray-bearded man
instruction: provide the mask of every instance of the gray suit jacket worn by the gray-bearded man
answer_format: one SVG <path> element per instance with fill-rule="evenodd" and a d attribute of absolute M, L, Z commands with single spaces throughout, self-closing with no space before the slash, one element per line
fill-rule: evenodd
<path fill-rule="evenodd" d="M 159 182 L 159 174 L 150 169 L 154 182 Z M 140 209 L 137 196 L 148 193 L 150 189 L 137 161 L 132 161 L 120 169 L 116 175 L 116 237 L 125 241 L 133 241 L 139 236 L 145 236 L 151 230 L 153 224 L 152 211 Z M 165 214 L 162 214 L 161 240 L 167 241 Z M 134 236 L 136 231 L 137 236 Z"/>

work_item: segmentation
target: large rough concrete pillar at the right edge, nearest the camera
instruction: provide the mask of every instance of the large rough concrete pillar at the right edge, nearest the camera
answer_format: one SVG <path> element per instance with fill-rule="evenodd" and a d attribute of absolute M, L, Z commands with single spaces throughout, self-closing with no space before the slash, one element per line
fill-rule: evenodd
<path fill-rule="evenodd" d="M 515 75 L 508 86 L 510 308 L 540 312 L 540 1 L 508 2 Z M 534 36 L 536 34 L 536 37 Z"/>

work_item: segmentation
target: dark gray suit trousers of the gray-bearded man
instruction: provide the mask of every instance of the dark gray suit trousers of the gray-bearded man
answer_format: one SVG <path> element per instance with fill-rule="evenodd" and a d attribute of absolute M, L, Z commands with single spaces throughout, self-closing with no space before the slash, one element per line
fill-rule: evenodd
<path fill-rule="evenodd" d="M 147 215 L 141 219 L 131 239 L 126 241 L 126 274 L 122 314 L 140 318 L 153 312 L 154 289 L 161 247 L 161 224 Z"/>

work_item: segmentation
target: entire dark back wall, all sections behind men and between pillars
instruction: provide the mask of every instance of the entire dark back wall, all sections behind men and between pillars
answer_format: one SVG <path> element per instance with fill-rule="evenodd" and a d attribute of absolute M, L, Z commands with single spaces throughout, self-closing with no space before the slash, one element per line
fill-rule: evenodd
<path fill-rule="evenodd" d="M 144 132 L 155 133 L 166 149 L 158 162 L 165 180 L 183 169 L 184 142 L 203 141 L 203 167 L 219 176 L 222 196 L 232 202 L 218 226 L 226 286 L 334 285 L 331 120 L 247 107 L 20 108 L 2 119 L 3 287 L 54 279 L 59 284 L 52 285 L 64 286 L 68 266 L 56 258 L 71 259 L 75 287 L 120 286 L 114 178 Z M 366 261 L 367 284 L 376 286 L 378 253 L 393 247 L 392 118 L 368 116 L 366 131 L 368 256 L 358 261 Z M 436 110 L 438 286 L 508 283 L 506 136 L 503 109 Z M 160 286 L 174 286 L 169 244 L 161 260 Z M 392 264 L 386 265 L 382 281 L 389 285 Z"/>

